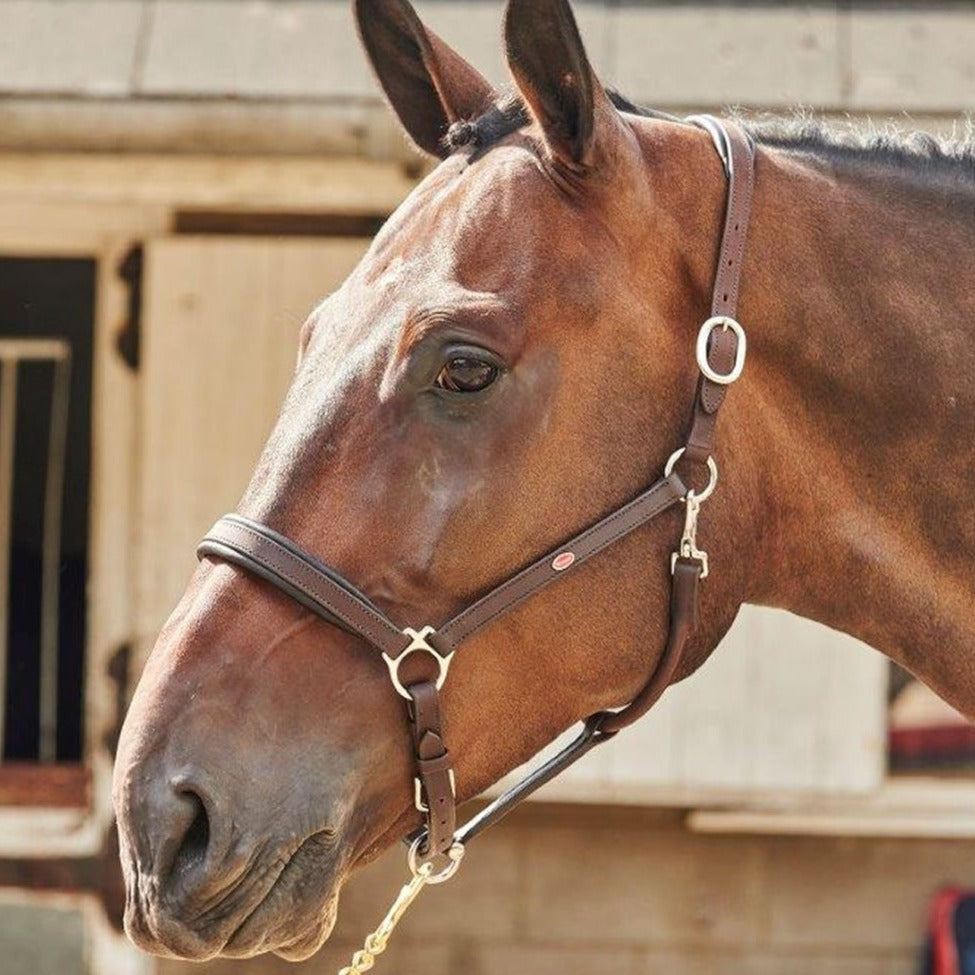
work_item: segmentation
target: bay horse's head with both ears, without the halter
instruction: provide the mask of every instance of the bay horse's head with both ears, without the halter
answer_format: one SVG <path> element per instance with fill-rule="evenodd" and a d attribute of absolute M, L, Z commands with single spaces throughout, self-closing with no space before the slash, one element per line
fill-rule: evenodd
<path fill-rule="evenodd" d="M 355 9 L 393 110 L 440 162 L 308 317 L 238 510 L 390 618 L 436 625 L 645 488 L 681 442 L 725 181 L 705 133 L 607 93 L 565 0 L 508 4 L 510 92 L 406 0 Z M 750 547 L 749 470 L 708 510 L 717 558 L 733 534 Z M 443 688 L 460 800 L 644 686 L 681 518 L 471 637 Z M 744 587 L 709 580 L 678 676 Z M 411 755 L 403 701 L 356 634 L 204 558 L 119 745 L 130 935 L 194 959 L 311 954 L 348 874 L 419 825 Z"/>

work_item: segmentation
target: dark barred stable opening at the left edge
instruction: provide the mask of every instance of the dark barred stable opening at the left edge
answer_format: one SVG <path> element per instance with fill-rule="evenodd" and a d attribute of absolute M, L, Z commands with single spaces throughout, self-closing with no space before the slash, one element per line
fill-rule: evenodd
<path fill-rule="evenodd" d="M 0 511 L 0 545 L 8 546 L 9 563 L 7 627 L 5 639 L 0 640 L 0 649 L 6 646 L 6 660 L 0 659 L 6 675 L 5 761 L 33 762 L 42 757 L 45 681 L 56 692 L 56 732 L 49 723 L 44 757 L 61 762 L 82 758 L 95 274 L 92 260 L 0 257 L 0 357 L 5 341 L 8 359 L 20 356 L 14 369 L 5 365 L 0 379 L 10 384 L 7 403 L 15 403 L 14 422 L 7 422 L 8 430 L 12 425 L 14 431 L 9 515 Z M 10 341 L 24 339 L 31 341 Z M 40 340 L 51 339 L 61 340 L 69 350 L 69 364 L 58 366 L 56 357 L 48 354 Z M 51 446 L 52 424 L 56 430 L 61 412 L 59 375 L 66 394 L 62 397 L 66 437 L 60 453 Z M 0 417 L 0 427 L 2 422 Z M 54 440 L 56 446 L 58 438 Z M 51 521 L 49 475 L 54 463 L 63 463 L 63 478 L 55 476 L 56 481 L 63 480 L 63 492 Z M 10 524 L 9 538 L 4 537 L 5 521 Z M 45 577 L 45 525 L 57 527 L 57 521 L 60 530 L 48 531 L 48 552 L 55 552 L 54 572 L 48 558 Z M 60 540 L 54 548 L 52 534 Z M 53 587 L 48 585 L 52 577 Z M 55 592 L 53 603 L 45 591 Z M 56 620 L 46 624 L 47 638 L 42 622 L 46 598 L 56 606 Z M 43 643 L 56 658 L 56 682 L 50 674 L 42 675 Z M 53 700 L 52 693 L 48 711 Z"/>

